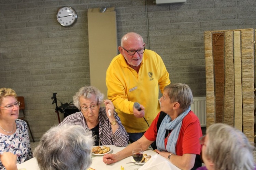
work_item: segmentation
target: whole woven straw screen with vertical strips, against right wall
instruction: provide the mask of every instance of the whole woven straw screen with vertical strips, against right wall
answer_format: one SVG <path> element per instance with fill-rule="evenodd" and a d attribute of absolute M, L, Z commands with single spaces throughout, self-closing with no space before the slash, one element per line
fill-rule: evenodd
<path fill-rule="evenodd" d="M 233 121 L 251 142 L 255 142 L 253 34 L 253 29 L 204 32 L 207 127 Z"/>

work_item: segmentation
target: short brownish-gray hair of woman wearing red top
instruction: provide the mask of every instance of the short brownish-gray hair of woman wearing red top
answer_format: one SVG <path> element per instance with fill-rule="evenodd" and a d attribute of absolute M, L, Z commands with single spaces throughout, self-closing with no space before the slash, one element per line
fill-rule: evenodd
<path fill-rule="evenodd" d="M 184 111 L 191 106 L 193 102 L 193 94 L 188 85 L 182 83 L 169 84 L 164 90 L 168 90 L 168 96 L 171 102 L 180 103 L 180 108 Z"/>

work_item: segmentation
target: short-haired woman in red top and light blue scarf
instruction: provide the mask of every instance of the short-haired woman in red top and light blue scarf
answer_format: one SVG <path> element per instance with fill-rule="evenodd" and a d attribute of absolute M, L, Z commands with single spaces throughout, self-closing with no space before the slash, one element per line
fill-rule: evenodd
<path fill-rule="evenodd" d="M 146 150 L 156 141 L 156 152 L 168 158 L 180 169 L 200 167 L 201 145 L 198 139 L 202 136 L 202 131 L 199 119 L 190 111 L 192 102 L 193 95 L 188 85 L 181 83 L 167 85 L 160 99 L 161 112 L 150 128 L 139 140 L 124 150 L 116 154 L 105 154 L 103 162 L 106 164 L 117 162 L 130 156 L 133 148 Z"/>

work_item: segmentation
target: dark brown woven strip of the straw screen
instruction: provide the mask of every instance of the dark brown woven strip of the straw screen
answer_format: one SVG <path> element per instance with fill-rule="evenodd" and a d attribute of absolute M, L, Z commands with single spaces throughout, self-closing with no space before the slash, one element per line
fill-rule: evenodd
<path fill-rule="evenodd" d="M 215 122 L 223 122 L 224 113 L 224 32 L 213 33 L 212 49 L 215 79 Z"/>

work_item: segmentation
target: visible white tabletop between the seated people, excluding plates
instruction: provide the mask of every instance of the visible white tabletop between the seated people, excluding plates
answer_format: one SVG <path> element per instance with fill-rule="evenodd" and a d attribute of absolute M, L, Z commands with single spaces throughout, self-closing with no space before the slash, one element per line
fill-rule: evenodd
<path fill-rule="evenodd" d="M 117 153 L 125 148 L 125 147 L 116 147 L 114 145 L 106 145 L 106 146 L 112 149 L 110 153 Z M 154 156 L 155 154 L 157 154 L 156 152 L 149 149 L 144 151 L 143 153 L 146 153 L 147 155 L 151 155 L 151 156 Z M 131 161 L 132 156 L 129 156 L 123 160 L 120 160 L 110 165 L 104 164 L 104 162 L 102 161 L 102 157 L 103 156 L 92 155 L 93 163 L 90 165 L 90 168 L 93 168 L 96 170 L 120 170 L 121 166 L 123 166 L 125 170 L 134 170 L 135 168 L 137 168 L 137 164 L 134 164 L 134 163 L 126 164 L 127 162 L 132 162 Z M 142 165 L 140 165 L 139 167 L 141 166 Z M 17 167 L 18 169 L 26 168 L 26 170 L 39 170 L 37 160 L 35 158 L 29 159 L 22 164 L 17 164 Z"/>

